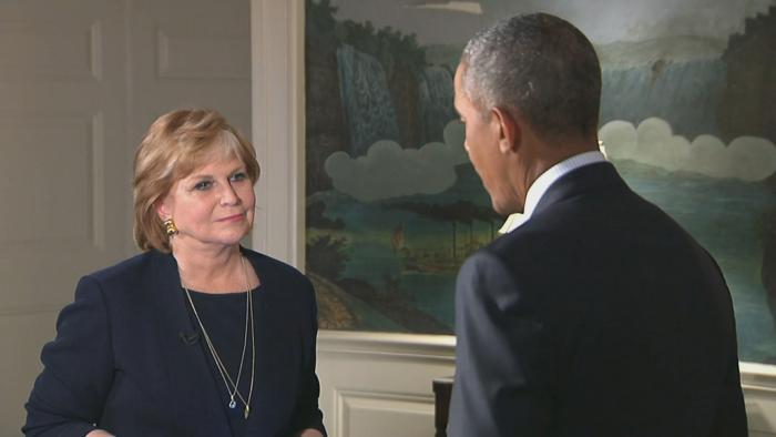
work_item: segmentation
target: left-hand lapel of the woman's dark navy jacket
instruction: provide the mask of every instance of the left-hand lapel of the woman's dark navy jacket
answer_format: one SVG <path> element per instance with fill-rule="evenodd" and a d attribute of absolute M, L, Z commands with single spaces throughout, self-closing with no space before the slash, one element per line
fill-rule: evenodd
<path fill-rule="evenodd" d="M 224 399 L 203 353 L 204 338 L 188 317 L 177 263 L 170 254 L 155 253 L 152 268 L 147 289 L 156 302 L 157 339 L 170 385 L 167 406 L 174 411 L 180 427 L 176 430 L 186 435 L 229 436 Z M 186 424 L 194 423 L 210 424 L 210 429 L 186 428 Z"/>

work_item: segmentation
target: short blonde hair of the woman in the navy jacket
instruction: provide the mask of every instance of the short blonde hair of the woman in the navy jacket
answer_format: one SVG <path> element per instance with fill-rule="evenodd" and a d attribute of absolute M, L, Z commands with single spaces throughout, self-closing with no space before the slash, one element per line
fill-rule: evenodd
<path fill-rule="evenodd" d="M 134 161 L 134 237 L 143 251 L 170 253 L 156 204 L 175 182 L 204 165 L 213 152 L 238 157 L 251 182 L 261 169 L 251 142 L 216 111 L 204 109 L 169 112 L 153 122 L 137 146 Z"/>

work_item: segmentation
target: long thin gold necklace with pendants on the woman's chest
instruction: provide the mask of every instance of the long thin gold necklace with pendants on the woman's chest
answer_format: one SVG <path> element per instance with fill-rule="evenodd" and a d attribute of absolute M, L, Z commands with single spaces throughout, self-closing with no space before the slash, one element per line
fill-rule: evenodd
<path fill-rule="evenodd" d="M 194 316 L 196 317 L 196 322 L 200 325 L 200 329 L 202 331 L 202 336 L 205 337 L 205 344 L 207 345 L 207 349 L 211 352 L 211 355 L 213 356 L 213 360 L 215 362 L 215 367 L 218 370 L 218 374 L 221 375 L 221 378 L 224 380 L 224 385 L 226 386 L 226 393 L 229 395 L 229 403 L 228 406 L 229 408 L 234 409 L 237 406 L 237 402 L 235 400 L 235 396 L 245 405 L 245 410 L 244 410 L 244 416 L 247 419 L 248 415 L 251 414 L 251 398 L 253 396 L 253 383 L 254 383 L 254 375 L 256 372 L 256 335 L 255 335 L 255 326 L 254 326 L 254 316 L 253 316 L 253 298 L 252 298 L 252 293 L 251 288 L 248 285 L 248 271 L 247 267 L 245 266 L 245 257 L 241 256 L 239 261 L 243 265 L 243 273 L 245 274 L 245 288 L 246 288 L 246 304 L 245 304 L 245 335 L 243 336 L 243 353 L 239 356 L 239 368 L 237 369 L 237 376 L 235 377 L 235 380 L 232 380 L 232 376 L 229 376 L 229 373 L 226 370 L 226 366 L 221 359 L 221 356 L 218 356 L 218 353 L 215 349 L 215 346 L 213 345 L 213 342 L 211 341 L 211 336 L 207 335 L 207 329 L 205 329 L 205 325 L 202 323 L 202 318 L 200 318 L 200 314 L 196 311 L 196 306 L 194 306 L 194 301 L 192 299 L 192 294 L 186 288 L 183 284 L 181 286 L 183 289 L 186 292 L 186 297 L 188 298 L 188 303 L 192 306 L 192 312 L 194 313 Z M 251 388 L 248 389 L 248 398 L 246 399 L 243 397 L 243 394 L 239 393 L 239 378 L 243 375 L 243 364 L 245 363 L 245 350 L 247 349 L 247 344 L 248 344 L 248 322 L 251 323 Z"/>

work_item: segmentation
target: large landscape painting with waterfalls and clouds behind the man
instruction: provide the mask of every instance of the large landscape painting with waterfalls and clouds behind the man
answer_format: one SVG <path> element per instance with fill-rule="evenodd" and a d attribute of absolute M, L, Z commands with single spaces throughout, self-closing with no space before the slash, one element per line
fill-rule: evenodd
<path fill-rule="evenodd" d="M 463 150 L 452 74 L 514 13 L 599 52 L 599 135 L 631 187 L 704 245 L 739 356 L 776 363 L 776 2 L 306 0 L 305 268 L 320 327 L 451 334 L 461 262 L 503 217 Z"/>

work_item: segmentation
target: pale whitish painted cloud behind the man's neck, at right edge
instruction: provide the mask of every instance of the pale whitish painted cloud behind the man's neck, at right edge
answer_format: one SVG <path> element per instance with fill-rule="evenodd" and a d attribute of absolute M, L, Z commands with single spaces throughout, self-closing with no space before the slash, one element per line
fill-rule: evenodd
<path fill-rule="evenodd" d="M 674 135 L 665 120 L 651 118 L 637 128 L 611 121 L 601 128 L 599 138 L 612 161 L 632 160 L 668 171 L 742 181 L 762 181 L 776 172 L 776 145 L 758 136 L 738 136 L 727 145 L 714 135 L 698 135 L 690 142 Z"/>

